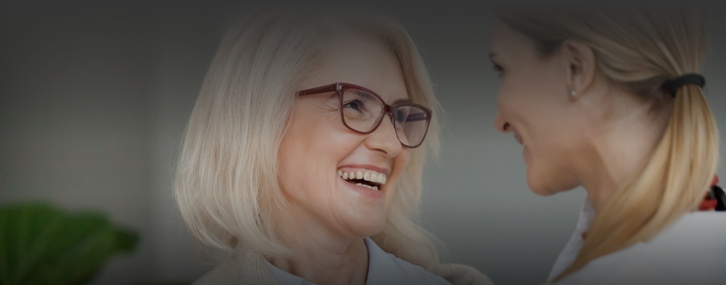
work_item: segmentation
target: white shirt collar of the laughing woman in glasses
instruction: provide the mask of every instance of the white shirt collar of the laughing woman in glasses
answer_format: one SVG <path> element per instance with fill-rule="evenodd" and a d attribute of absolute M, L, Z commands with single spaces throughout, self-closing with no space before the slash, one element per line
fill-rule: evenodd
<path fill-rule="evenodd" d="M 372 239 L 365 238 L 368 248 L 368 275 L 366 284 L 449 284 L 444 278 L 425 271 L 419 265 L 413 265 L 406 260 L 383 251 Z M 269 261 L 265 260 L 267 268 L 280 285 L 314 285 L 305 279 L 282 271 Z"/>

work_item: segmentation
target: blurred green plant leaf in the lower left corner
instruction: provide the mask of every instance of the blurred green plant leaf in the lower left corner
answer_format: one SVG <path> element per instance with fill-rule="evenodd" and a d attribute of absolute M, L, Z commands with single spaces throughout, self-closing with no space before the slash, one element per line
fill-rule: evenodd
<path fill-rule="evenodd" d="M 84 284 L 105 260 L 139 237 L 103 213 L 70 213 L 43 203 L 0 208 L 0 284 Z"/>

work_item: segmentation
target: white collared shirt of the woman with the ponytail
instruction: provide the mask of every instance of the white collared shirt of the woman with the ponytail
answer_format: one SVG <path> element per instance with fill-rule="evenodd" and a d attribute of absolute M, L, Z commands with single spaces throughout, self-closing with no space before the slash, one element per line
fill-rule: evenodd
<path fill-rule="evenodd" d="M 550 280 L 574 261 L 593 216 L 586 202 Z M 687 213 L 650 241 L 596 258 L 556 284 L 726 284 L 726 213 Z"/>

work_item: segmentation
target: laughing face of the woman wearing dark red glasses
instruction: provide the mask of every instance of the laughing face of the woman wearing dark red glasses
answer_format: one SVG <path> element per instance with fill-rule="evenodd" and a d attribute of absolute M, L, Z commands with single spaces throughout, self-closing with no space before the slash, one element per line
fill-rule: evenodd
<path fill-rule="evenodd" d="M 408 98 L 396 56 L 362 39 L 340 38 L 330 45 L 300 90 L 334 82 L 368 88 L 388 104 Z M 306 95 L 297 99 L 280 145 L 280 182 L 295 223 L 367 237 L 386 224 L 393 189 L 408 161 L 409 149 L 401 146 L 388 116 L 375 132 L 362 135 L 343 125 L 334 93 Z M 386 182 L 379 181 L 376 190 L 343 179 L 344 173 Z"/>

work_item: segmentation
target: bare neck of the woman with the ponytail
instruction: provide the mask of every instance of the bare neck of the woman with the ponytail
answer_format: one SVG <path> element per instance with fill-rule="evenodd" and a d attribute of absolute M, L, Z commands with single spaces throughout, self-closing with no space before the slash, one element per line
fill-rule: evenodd
<path fill-rule="evenodd" d="M 621 102 L 612 106 L 618 106 L 618 111 L 599 118 L 600 127 L 588 147 L 589 154 L 581 161 L 584 165 L 581 168 L 584 169 L 582 186 L 587 190 L 595 213 L 629 179 L 640 173 L 668 122 L 667 112 L 652 114 L 650 106 L 637 101 L 634 95 L 617 96 Z"/>

